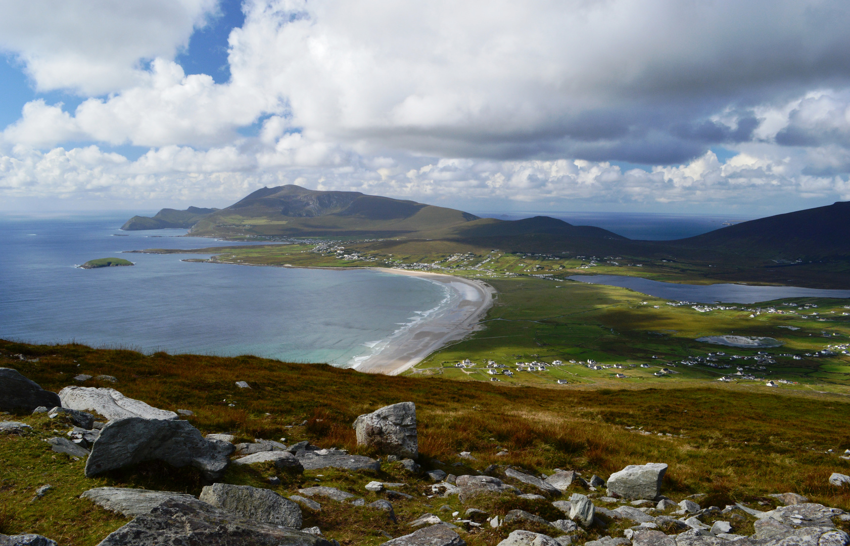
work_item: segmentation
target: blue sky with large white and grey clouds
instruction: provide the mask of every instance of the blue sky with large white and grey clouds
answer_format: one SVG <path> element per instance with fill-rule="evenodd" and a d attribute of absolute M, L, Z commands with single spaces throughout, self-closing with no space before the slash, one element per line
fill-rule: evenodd
<path fill-rule="evenodd" d="M 846 0 L 0 0 L 0 211 L 850 200 Z"/>

